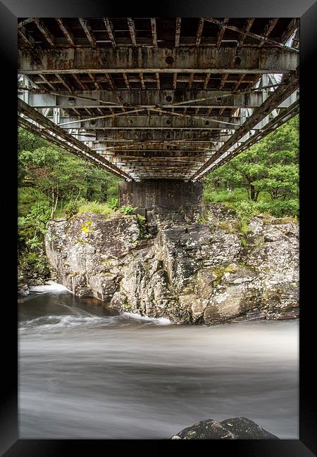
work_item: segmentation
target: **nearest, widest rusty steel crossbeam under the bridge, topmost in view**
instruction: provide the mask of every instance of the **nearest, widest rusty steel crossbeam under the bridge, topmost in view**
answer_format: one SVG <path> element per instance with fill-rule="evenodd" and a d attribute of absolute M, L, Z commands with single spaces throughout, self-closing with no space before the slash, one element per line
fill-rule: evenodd
<path fill-rule="evenodd" d="M 297 51 L 275 47 L 137 47 L 18 50 L 18 72 L 44 73 L 285 73 L 299 65 Z"/>

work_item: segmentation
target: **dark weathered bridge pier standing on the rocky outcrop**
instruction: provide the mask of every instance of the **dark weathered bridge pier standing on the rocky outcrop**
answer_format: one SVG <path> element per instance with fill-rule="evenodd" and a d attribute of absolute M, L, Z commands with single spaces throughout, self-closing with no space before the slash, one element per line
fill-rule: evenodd
<path fill-rule="evenodd" d="M 182 179 L 146 179 L 141 182 L 119 183 L 119 205 L 152 210 L 154 206 L 168 211 L 182 207 L 203 205 L 203 186 L 200 182 Z"/>

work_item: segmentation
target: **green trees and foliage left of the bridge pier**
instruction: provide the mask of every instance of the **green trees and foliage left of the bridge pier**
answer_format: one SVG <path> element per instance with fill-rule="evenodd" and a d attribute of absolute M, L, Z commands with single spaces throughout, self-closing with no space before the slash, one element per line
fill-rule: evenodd
<path fill-rule="evenodd" d="M 104 202 L 108 195 L 118 195 L 116 176 L 23 129 L 18 131 L 18 186 L 42 193 L 52 216 L 58 205 L 65 209 L 73 200 Z"/>

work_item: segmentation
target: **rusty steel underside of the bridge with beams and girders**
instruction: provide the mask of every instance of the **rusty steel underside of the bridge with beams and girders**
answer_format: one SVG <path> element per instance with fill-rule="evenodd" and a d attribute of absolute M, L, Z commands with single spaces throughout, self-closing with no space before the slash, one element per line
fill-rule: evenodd
<path fill-rule="evenodd" d="M 297 114 L 298 67 L 297 18 L 19 18 L 18 120 L 125 181 L 199 181 Z"/>

